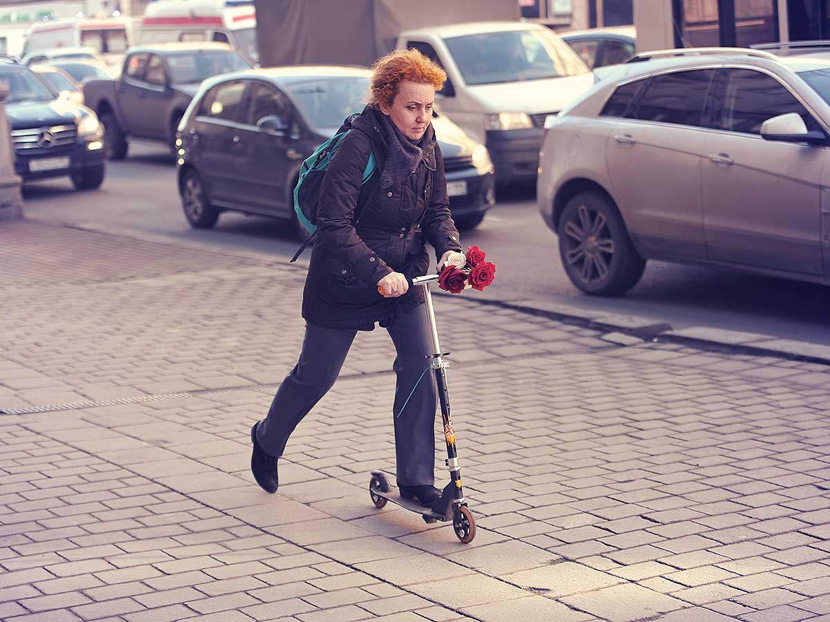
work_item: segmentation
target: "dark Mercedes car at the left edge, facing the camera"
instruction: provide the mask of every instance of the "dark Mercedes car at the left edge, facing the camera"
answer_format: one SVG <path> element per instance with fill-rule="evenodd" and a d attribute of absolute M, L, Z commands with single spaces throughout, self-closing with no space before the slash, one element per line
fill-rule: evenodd
<path fill-rule="evenodd" d="M 70 177 L 78 189 L 104 181 L 104 129 L 95 113 L 59 97 L 31 69 L 0 58 L 8 87 L 6 115 L 12 130 L 14 172 L 24 182 Z"/>

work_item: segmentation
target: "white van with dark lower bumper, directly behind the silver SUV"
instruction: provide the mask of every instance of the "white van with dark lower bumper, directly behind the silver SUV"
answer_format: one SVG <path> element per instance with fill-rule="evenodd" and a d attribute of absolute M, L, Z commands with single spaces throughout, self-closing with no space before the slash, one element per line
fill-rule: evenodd
<path fill-rule="evenodd" d="M 496 181 L 535 180 L 544 119 L 593 86 L 594 77 L 549 28 L 527 22 L 476 22 L 403 32 L 447 71 L 437 93 L 443 114 L 486 144 Z"/>

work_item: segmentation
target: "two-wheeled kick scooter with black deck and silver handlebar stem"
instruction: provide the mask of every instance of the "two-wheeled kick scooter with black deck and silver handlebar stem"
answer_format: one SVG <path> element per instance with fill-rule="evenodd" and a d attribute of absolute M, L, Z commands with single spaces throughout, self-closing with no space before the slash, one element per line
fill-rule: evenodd
<path fill-rule="evenodd" d="M 383 508 L 387 501 L 397 503 L 410 512 L 421 514 L 424 522 L 451 521 L 456 536 L 465 544 L 472 542 L 476 537 L 476 521 L 466 506 L 464 491 L 461 488 L 461 468 L 458 466 L 458 454 L 456 451 L 456 435 L 452 429 L 452 417 L 450 416 L 450 394 L 447 390 L 447 367 L 449 363 L 444 361 L 449 352 L 441 352 L 438 343 L 438 328 L 435 323 L 435 309 L 432 307 L 432 295 L 429 291 L 429 284 L 438 279 L 438 275 L 417 276 L 412 279 L 410 287 L 422 287 L 427 308 L 427 320 L 429 321 L 430 333 L 432 335 L 432 354 L 427 358 L 431 359 L 430 367 L 435 372 L 435 380 L 438 385 L 438 401 L 441 402 L 441 416 L 444 421 L 444 440 L 447 441 L 447 469 L 450 471 L 450 483 L 444 487 L 441 497 L 432 503 L 432 508 L 424 508 L 417 499 L 405 499 L 401 497 L 398 488 L 389 484 L 386 474 L 383 471 L 372 471 L 372 480 L 369 482 L 369 496 L 372 498 L 376 508 Z"/>

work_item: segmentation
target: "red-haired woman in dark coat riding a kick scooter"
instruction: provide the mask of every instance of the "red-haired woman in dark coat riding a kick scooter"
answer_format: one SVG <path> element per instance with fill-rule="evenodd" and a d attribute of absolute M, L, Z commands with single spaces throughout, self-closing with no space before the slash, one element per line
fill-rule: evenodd
<path fill-rule="evenodd" d="M 425 239 L 435 248 L 438 265 L 461 250 L 430 123 L 435 91 L 446 79 L 416 50 L 395 51 L 377 61 L 369 105 L 352 121 L 353 131 L 325 173 L 319 239 L 303 292 L 300 360 L 276 392 L 266 419 L 251 428 L 251 471 L 268 493 L 276 492 L 277 458 L 288 437 L 334 385 L 357 331 L 380 323 L 397 352 L 398 487 L 404 498 L 417 498 L 425 507 L 441 495 L 432 485 L 436 387 L 432 374 L 422 377 L 430 333 L 423 292 L 409 290 L 407 277 L 428 270 Z M 378 168 L 361 186 L 369 153 Z M 359 203 L 365 207 L 356 215 Z"/>

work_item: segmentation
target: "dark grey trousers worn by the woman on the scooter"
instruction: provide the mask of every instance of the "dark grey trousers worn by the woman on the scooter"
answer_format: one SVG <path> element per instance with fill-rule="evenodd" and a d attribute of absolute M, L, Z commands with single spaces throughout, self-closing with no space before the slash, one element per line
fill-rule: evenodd
<path fill-rule="evenodd" d="M 387 330 L 397 352 L 393 417 L 398 484 L 432 485 L 437 391 L 432 369 L 423 373 L 432 353 L 424 306 L 398 313 Z M 266 454 L 282 455 L 291 432 L 334 385 L 356 333 L 306 324 L 300 360 L 276 391 L 268 415 L 256 426 L 256 440 Z M 410 392 L 412 397 L 401 412 Z"/>

